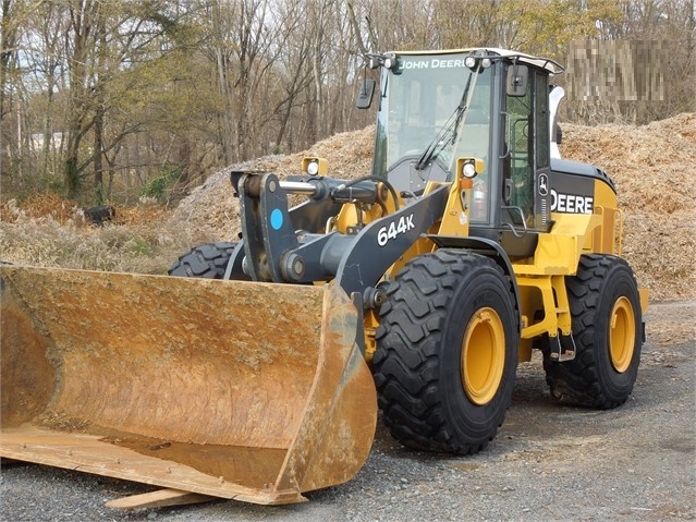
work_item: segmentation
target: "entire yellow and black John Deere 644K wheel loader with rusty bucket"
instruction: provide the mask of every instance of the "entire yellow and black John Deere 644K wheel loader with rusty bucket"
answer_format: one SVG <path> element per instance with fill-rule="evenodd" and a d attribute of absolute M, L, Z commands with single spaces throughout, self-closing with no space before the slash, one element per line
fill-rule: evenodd
<path fill-rule="evenodd" d="M 625 402 L 648 295 L 614 183 L 558 153 L 562 72 L 368 54 L 371 172 L 232 172 L 239 240 L 168 276 L 1 266 L 0 456 L 278 505 L 351 479 L 378 412 L 405 447 L 483 450 L 533 350 L 559 401 Z"/>

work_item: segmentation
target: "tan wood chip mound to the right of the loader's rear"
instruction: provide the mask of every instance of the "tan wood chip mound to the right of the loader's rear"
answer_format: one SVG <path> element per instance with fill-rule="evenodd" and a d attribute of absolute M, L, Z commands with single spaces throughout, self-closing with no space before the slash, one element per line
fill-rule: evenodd
<path fill-rule="evenodd" d="M 561 154 L 616 183 L 623 255 L 660 301 L 696 299 L 696 114 L 648 125 L 563 125 Z"/>

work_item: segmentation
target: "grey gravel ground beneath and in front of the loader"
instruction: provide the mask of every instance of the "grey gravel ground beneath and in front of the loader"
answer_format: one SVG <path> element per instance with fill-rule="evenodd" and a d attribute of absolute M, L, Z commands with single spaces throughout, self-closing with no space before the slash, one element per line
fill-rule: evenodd
<path fill-rule="evenodd" d="M 679 318 L 688 342 L 658 344 L 650 321 Z M 347 484 L 309 502 L 261 507 L 215 501 L 119 511 L 105 501 L 144 486 L 5 463 L 3 521 L 462 521 L 696 519 L 696 302 L 650 308 L 634 393 L 613 411 L 558 405 L 540 361 L 520 366 L 513 404 L 489 448 L 452 458 L 400 447 L 378 428 L 373 452 Z M 683 336 L 680 336 L 683 339 Z"/>

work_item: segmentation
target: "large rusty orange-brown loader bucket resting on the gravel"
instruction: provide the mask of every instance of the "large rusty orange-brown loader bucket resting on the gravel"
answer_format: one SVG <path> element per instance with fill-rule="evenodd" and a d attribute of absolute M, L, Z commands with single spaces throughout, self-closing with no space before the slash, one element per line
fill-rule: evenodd
<path fill-rule="evenodd" d="M 367 459 L 376 391 L 339 287 L 0 277 L 1 457 L 265 505 Z"/>

